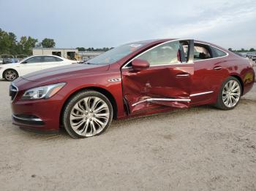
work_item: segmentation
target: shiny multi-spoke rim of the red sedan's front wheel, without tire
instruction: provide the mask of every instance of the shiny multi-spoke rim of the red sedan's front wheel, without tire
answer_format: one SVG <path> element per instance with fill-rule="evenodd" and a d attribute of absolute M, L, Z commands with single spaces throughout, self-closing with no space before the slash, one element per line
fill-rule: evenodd
<path fill-rule="evenodd" d="M 108 104 L 101 98 L 90 96 L 80 99 L 73 106 L 69 121 L 72 129 L 80 136 L 95 136 L 100 133 L 110 118 Z"/>

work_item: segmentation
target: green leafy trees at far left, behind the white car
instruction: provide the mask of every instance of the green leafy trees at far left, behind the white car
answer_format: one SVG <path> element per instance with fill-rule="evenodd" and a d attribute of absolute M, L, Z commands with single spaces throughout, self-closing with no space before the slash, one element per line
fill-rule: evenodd
<path fill-rule="evenodd" d="M 45 38 L 42 42 L 31 36 L 17 36 L 0 28 L 0 55 L 31 55 L 33 47 L 55 47 L 53 39 Z"/>

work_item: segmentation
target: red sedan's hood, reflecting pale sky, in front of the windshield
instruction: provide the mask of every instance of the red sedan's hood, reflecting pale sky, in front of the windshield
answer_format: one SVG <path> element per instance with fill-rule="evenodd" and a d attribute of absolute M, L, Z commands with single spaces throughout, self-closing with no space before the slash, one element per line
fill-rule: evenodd
<path fill-rule="evenodd" d="M 78 77 L 86 74 L 97 74 L 100 71 L 107 71 L 109 65 L 101 66 L 101 65 L 90 65 L 83 63 L 76 63 L 67 66 L 58 66 L 51 69 L 45 69 L 41 71 L 32 72 L 30 74 L 26 74 L 21 78 L 39 82 L 45 80 L 56 80 L 56 79 L 64 79 L 69 77 Z"/>

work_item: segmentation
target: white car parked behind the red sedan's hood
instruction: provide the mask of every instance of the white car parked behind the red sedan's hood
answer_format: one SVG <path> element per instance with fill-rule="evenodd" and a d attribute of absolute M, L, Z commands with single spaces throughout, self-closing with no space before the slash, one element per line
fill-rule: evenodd
<path fill-rule="evenodd" d="M 71 61 L 56 55 L 32 55 L 18 63 L 0 65 L 0 78 L 13 81 L 18 77 L 42 69 L 50 69 L 56 66 L 64 66 L 77 61 Z"/>

